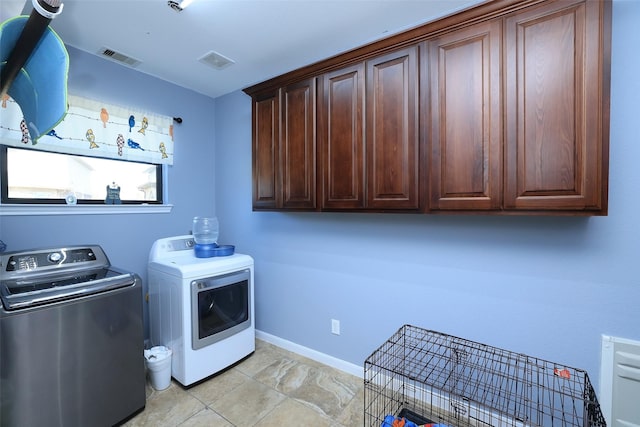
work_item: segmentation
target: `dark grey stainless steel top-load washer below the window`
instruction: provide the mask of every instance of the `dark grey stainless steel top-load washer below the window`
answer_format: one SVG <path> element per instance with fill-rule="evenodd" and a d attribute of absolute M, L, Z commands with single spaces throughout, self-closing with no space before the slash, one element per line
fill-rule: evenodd
<path fill-rule="evenodd" d="M 112 426 L 145 406 L 140 278 L 100 246 L 0 256 L 0 425 Z"/>

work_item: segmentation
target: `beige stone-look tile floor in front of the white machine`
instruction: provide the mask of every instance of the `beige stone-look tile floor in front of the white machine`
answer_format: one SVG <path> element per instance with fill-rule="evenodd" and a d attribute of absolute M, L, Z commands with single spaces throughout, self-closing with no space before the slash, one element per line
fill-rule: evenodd
<path fill-rule="evenodd" d="M 126 427 L 362 426 L 362 378 L 265 341 L 240 363 L 189 388 L 172 380 Z"/>

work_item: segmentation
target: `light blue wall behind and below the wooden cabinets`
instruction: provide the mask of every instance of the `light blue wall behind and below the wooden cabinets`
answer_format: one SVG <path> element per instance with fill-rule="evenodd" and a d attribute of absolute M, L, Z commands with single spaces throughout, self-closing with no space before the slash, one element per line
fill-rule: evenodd
<path fill-rule="evenodd" d="M 362 365 L 409 323 L 598 384 L 600 335 L 640 339 L 638 17 L 614 2 L 607 217 L 252 212 L 250 99 L 218 98 L 217 215 L 256 260 L 258 329 Z"/>

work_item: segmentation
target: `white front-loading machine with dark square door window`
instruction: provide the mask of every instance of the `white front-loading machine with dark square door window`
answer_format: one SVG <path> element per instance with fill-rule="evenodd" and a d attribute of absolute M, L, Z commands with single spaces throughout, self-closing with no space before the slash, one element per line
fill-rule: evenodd
<path fill-rule="evenodd" d="M 150 338 L 172 352 L 171 376 L 201 381 L 255 350 L 253 259 L 198 258 L 193 236 L 157 240 L 149 253 Z"/>

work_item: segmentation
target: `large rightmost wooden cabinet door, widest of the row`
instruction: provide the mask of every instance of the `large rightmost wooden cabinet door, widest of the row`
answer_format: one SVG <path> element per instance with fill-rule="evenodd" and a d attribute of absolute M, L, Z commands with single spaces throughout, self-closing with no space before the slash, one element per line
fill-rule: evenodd
<path fill-rule="evenodd" d="M 606 212 L 606 8 L 552 2 L 506 20 L 507 209 Z"/>

